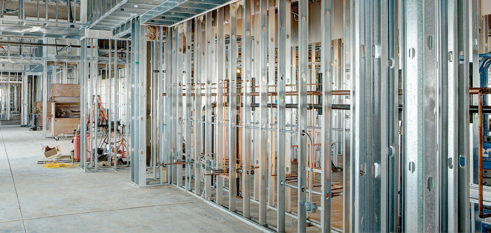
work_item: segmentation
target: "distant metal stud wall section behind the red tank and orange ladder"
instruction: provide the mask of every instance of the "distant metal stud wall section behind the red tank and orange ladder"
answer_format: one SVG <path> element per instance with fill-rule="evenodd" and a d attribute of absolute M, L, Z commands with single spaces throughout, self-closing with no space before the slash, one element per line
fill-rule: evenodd
<path fill-rule="evenodd" d="M 82 45 L 81 169 L 127 170 L 130 40 L 85 38 Z"/>

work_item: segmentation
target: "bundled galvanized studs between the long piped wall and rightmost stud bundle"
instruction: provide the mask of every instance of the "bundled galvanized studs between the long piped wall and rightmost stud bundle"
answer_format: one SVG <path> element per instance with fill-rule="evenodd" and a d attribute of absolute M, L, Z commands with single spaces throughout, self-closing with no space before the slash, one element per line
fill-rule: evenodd
<path fill-rule="evenodd" d="M 351 4 L 350 231 L 400 231 L 398 4 Z"/>

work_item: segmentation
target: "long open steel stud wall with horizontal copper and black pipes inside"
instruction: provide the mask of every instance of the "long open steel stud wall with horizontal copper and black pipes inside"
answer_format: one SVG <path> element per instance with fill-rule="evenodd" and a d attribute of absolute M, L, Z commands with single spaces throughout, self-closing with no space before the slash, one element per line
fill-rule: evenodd
<path fill-rule="evenodd" d="M 332 109 L 331 97 L 350 94 L 339 71 L 331 93 L 331 1 L 320 6 L 245 0 L 165 31 L 169 182 L 266 232 L 342 231 L 330 220 L 342 195 L 331 192 L 331 112 L 344 119 L 347 106 Z M 318 13 L 322 39 L 310 43 L 309 14 Z"/>

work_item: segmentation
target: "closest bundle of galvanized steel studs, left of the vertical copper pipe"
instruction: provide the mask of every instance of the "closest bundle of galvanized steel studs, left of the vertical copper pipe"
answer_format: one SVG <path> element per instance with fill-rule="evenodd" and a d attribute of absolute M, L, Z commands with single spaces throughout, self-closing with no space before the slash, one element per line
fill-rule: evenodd
<path fill-rule="evenodd" d="M 468 77 L 477 37 L 469 38 L 477 17 L 468 3 L 402 4 L 403 231 L 470 230 Z"/>

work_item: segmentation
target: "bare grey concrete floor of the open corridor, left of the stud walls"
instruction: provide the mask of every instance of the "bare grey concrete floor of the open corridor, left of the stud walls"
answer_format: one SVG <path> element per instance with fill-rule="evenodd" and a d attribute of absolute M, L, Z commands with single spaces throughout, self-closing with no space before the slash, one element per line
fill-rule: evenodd
<path fill-rule="evenodd" d="M 196 200 L 173 186 L 139 188 L 114 171 L 41 168 L 40 144 L 68 155 L 71 142 L 41 135 L 0 127 L 0 232 L 257 232 L 202 201 L 145 207 Z M 111 210 L 118 208 L 129 209 Z M 109 211 L 80 214 L 93 210 Z M 67 215 L 39 218 L 59 214 Z M 21 218 L 34 219 L 1 223 Z"/>

